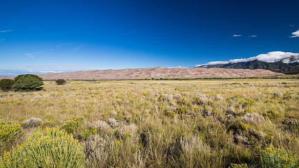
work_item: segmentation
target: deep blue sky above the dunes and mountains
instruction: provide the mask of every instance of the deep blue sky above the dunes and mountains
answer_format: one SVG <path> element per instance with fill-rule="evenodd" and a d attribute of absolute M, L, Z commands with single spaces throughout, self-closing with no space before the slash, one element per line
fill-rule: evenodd
<path fill-rule="evenodd" d="M 298 0 L 0 3 L 0 75 L 194 67 L 299 52 L 299 37 L 291 38 Z"/>

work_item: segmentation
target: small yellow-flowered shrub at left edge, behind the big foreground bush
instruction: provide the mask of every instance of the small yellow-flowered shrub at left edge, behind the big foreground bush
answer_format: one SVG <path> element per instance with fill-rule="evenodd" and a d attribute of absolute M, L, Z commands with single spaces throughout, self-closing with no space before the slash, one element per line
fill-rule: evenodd
<path fill-rule="evenodd" d="M 0 143 L 14 141 L 21 133 L 20 123 L 0 120 Z"/>

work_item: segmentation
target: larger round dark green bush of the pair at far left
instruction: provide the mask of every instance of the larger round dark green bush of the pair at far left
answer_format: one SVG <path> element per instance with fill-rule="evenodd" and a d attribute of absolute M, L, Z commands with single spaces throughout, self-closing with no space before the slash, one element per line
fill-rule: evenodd
<path fill-rule="evenodd" d="M 43 79 L 33 74 L 19 75 L 15 78 L 15 83 L 12 85 L 16 90 L 34 90 L 43 85 Z"/>

